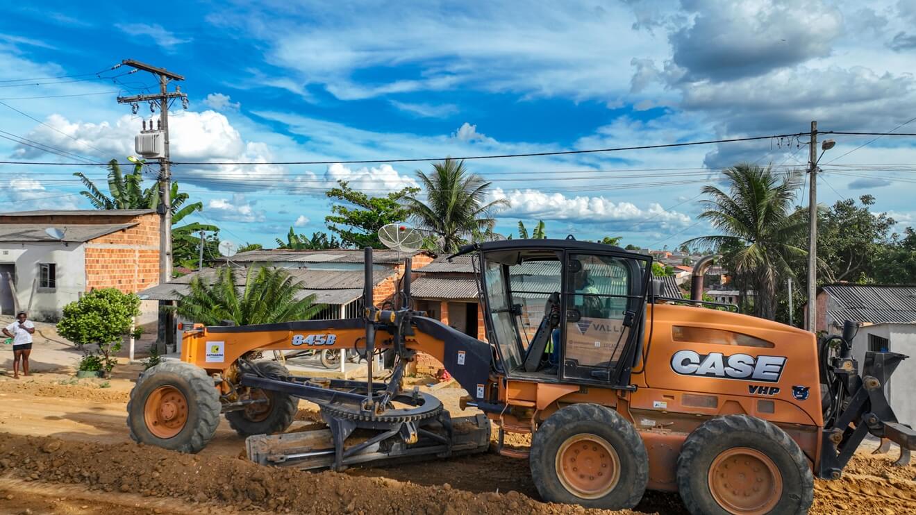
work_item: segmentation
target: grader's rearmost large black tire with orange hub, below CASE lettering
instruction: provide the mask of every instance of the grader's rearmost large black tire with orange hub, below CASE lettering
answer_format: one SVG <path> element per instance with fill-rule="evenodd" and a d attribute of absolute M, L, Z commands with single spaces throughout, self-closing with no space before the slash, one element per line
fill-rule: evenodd
<path fill-rule="evenodd" d="M 814 477 L 785 431 L 747 415 L 697 427 L 678 456 L 678 489 L 694 514 L 807 513 Z"/>

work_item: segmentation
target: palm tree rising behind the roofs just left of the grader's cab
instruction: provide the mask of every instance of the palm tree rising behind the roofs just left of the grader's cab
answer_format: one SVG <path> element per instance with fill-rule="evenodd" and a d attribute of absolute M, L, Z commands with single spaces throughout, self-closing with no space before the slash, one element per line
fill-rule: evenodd
<path fill-rule="evenodd" d="M 474 233 L 492 231 L 496 220 L 491 214 L 509 205 L 505 198 L 486 202 L 492 183 L 470 173 L 463 160 L 446 158 L 432 164 L 430 175 L 417 170 L 417 176 L 426 199 L 414 194 L 406 198 L 406 205 L 420 229 L 441 240 L 442 252 L 455 252 Z"/>

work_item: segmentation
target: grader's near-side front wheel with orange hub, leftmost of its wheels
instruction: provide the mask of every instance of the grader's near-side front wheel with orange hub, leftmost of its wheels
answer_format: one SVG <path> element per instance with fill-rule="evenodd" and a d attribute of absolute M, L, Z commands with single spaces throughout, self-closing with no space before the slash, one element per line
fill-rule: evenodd
<path fill-rule="evenodd" d="M 166 361 L 144 371 L 130 391 L 130 437 L 182 453 L 210 442 L 220 423 L 220 396 L 207 372 L 189 363 Z"/>

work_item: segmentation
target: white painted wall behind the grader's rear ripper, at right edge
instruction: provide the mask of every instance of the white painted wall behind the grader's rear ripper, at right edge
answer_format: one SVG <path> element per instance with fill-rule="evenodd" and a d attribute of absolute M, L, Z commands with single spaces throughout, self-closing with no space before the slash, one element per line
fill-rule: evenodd
<path fill-rule="evenodd" d="M 916 324 L 876 324 L 859 327 L 853 338 L 853 357 L 859 362 L 859 371 L 865 364 L 868 335 L 889 339 L 889 351 L 898 352 L 904 359 L 890 376 L 886 392 L 890 407 L 903 424 L 916 424 Z"/>

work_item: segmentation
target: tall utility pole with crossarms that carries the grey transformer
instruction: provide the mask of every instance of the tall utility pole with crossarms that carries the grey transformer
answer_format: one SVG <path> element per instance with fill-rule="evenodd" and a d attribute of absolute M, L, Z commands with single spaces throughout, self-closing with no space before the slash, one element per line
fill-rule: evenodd
<path fill-rule="evenodd" d="M 180 98 L 182 105 L 187 108 L 188 95 L 181 92 L 180 87 L 175 91 L 169 92 L 169 82 L 171 80 L 184 80 L 184 77 L 173 73 L 164 68 L 158 68 L 146 63 L 134 60 L 124 59 L 121 61 L 125 66 L 136 70 L 148 71 L 155 75 L 159 80 L 158 94 L 134 95 L 130 97 L 118 97 L 118 103 L 129 103 L 134 106 L 136 113 L 136 104 L 139 102 L 150 102 L 150 107 L 158 106 L 159 108 L 159 129 L 163 136 L 163 153 L 159 157 L 159 284 L 169 283 L 172 274 L 172 246 L 171 246 L 171 170 L 169 169 L 169 101 Z M 152 122 L 150 122 L 151 124 Z M 161 304 L 170 304 L 170 301 L 160 301 Z M 159 341 L 165 344 L 172 342 L 174 332 L 169 329 L 172 326 L 172 313 L 170 310 L 159 310 Z"/>

